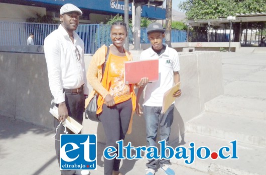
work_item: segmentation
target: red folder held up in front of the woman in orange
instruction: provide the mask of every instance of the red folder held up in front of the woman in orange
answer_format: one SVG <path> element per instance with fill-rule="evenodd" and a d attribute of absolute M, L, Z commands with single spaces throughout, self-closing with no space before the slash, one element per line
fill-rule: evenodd
<path fill-rule="evenodd" d="M 158 81 L 159 59 L 125 61 L 124 62 L 125 84 L 138 83 L 143 77 L 148 77 L 149 82 Z"/>

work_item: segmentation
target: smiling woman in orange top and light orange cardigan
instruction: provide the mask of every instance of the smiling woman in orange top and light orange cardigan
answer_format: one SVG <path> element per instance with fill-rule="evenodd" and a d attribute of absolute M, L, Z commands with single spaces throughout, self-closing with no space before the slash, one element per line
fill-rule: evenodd
<path fill-rule="evenodd" d="M 127 36 L 126 24 L 122 21 L 114 22 L 111 25 L 110 36 L 113 44 L 109 46 L 110 51 L 104 74 L 102 75 L 102 64 L 105 61 L 107 50 L 105 45 L 97 49 L 88 67 L 87 79 L 94 90 L 86 99 L 86 104 L 94 93 L 99 94 L 96 113 L 100 114 L 99 118 L 104 128 L 105 147 L 117 148 L 115 142 L 124 139 L 132 111 L 136 109 L 134 86 L 145 86 L 148 83 L 148 78 L 142 78 L 137 84 L 125 84 L 124 61 L 132 60 L 130 52 L 123 47 Z M 119 159 L 104 158 L 104 174 L 121 175 L 118 171 L 119 164 Z"/>

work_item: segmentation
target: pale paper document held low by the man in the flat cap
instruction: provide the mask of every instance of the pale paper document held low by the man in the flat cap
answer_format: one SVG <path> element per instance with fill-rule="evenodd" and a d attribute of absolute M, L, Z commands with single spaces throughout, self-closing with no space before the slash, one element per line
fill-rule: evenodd
<path fill-rule="evenodd" d="M 53 105 L 53 108 L 50 108 L 50 113 L 52 113 L 52 115 L 54 115 L 54 117 L 58 119 L 58 107 Z M 83 127 L 71 116 L 68 116 L 66 120 L 62 123 L 74 133 L 79 133 Z"/>

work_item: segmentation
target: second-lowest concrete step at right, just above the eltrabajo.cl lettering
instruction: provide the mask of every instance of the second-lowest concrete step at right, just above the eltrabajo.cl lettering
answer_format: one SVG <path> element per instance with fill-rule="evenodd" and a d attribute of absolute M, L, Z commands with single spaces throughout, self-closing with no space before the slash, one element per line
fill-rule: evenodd
<path fill-rule="evenodd" d="M 206 111 L 186 123 L 188 132 L 266 146 L 266 121 Z"/>

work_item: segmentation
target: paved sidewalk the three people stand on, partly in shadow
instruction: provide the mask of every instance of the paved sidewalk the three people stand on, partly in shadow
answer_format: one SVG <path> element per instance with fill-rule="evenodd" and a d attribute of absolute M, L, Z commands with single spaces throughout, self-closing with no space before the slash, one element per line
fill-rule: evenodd
<path fill-rule="evenodd" d="M 19 119 L 0 115 L 0 174 L 59 175 L 55 156 L 54 130 Z M 97 144 L 97 170 L 91 175 L 103 174 L 103 144 Z M 146 160 L 124 160 L 120 171 L 126 175 L 145 174 Z M 204 175 L 188 167 L 173 164 L 177 174 Z M 158 170 L 156 175 L 165 174 Z"/>

